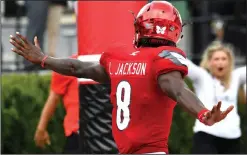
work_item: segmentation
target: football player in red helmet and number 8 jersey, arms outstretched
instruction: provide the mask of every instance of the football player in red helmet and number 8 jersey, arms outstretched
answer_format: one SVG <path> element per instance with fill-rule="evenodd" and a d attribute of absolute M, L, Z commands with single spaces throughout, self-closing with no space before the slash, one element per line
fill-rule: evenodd
<path fill-rule="evenodd" d="M 168 153 L 173 109 L 178 103 L 206 125 L 213 125 L 233 109 L 221 103 L 206 109 L 184 87 L 188 69 L 185 53 L 176 47 L 182 21 L 166 1 L 146 4 L 134 22 L 134 47 L 118 45 L 105 51 L 100 63 L 44 55 L 38 45 L 21 34 L 10 36 L 12 51 L 55 72 L 111 84 L 112 130 L 119 152 Z M 124 31 L 124 30 L 122 30 Z"/>

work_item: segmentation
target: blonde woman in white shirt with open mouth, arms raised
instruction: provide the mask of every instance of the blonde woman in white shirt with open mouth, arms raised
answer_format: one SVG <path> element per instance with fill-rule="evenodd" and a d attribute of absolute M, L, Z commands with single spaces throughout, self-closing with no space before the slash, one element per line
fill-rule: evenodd
<path fill-rule="evenodd" d="M 237 110 L 238 90 L 246 84 L 246 66 L 234 69 L 233 50 L 220 42 L 213 42 L 205 50 L 200 66 L 188 61 L 188 77 L 195 93 L 212 109 L 222 101 L 222 110 L 235 108 L 225 120 L 206 126 L 196 120 L 192 153 L 240 153 L 240 117 Z"/>

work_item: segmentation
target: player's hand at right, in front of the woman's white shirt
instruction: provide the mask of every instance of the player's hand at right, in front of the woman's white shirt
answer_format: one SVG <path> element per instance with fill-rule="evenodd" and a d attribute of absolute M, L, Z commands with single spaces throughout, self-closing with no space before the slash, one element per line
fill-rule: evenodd
<path fill-rule="evenodd" d="M 221 101 L 215 105 L 211 111 L 204 114 L 203 122 L 209 126 L 214 125 L 217 122 L 225 119 L 227 114 L 232 111 L 234 106 L 229 106 L 225 111 L 220 111 Z"/>

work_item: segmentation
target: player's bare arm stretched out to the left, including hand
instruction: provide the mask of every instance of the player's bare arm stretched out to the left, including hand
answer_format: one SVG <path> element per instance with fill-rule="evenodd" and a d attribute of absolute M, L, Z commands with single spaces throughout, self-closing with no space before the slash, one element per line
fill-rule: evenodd
<path fill-rule="evenodd" d="M 15 48 L 11 50 L 34 64 L 40 64 L 45 68 L 51 69 L 60 74 L 75 76 L 79 78 L 89 78 L 98 82 L 108 82 L 109 77 L 104 68 L 95 62 L 81 62 L 72 58 L 52 58 L 46 56 L 40 49 L 37 37 L 34 43 L 30 43 L 24 36 L 16 33 L 16 36 L 10 35 L 10 43 Z"/>

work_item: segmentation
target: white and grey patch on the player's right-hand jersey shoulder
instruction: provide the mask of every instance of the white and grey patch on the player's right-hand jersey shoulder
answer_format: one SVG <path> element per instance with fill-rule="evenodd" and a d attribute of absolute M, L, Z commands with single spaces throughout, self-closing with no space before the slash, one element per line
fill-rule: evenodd
<path fill-rule="evenodd" d="M 187 59 L 174 51 L 168 51 L 168 50 L 163 50 L 160 54 L 159 57 L 161 58 L 165 58 L 165 59 L 169 59 L 171 60 L 174 64 L 178 65 L 178 66 L 187 66 Z"/>

